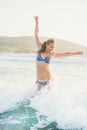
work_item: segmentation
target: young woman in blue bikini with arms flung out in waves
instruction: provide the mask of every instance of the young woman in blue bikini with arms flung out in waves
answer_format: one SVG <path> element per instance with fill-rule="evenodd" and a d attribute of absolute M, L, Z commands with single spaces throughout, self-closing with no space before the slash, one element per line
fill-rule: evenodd
<path fill-rule="evenodd" d="M 51 72 L 49 70 L 49 64 L 52 57 L 64 57 L 73 55 L 82 55 L 82 52 L 66 52 L 66 53 L 55 53 L 53 49 L 55 48 L 55 41 L 53 39 L 48 39 L 43 43 L 40 42 L 38 33 L 38 16 L 35 16 L 35 40 L 38 48 L 37 58 L 36 58 L 36 69 L 37 69 L 37 79 L 36 83 L 38 89 L 48 85 L 51 79 Z"/>

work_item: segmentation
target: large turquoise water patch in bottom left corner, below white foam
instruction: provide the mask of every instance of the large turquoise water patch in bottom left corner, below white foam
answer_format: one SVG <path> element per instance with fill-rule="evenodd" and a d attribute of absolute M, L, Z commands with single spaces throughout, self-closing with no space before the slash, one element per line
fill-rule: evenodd
<path fill-rule="evenodd" d="M 26 104 L 0 114 L 0 130 L 28 130 L 35 123 L 36 111 Z"/>

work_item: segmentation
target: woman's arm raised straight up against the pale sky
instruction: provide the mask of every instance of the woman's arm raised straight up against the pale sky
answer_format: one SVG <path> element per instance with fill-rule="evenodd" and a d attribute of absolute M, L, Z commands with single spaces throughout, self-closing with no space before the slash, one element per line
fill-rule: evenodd
<path fill-rule="evenodd" d="M 39 34 L 38 19 L 39 18 L 38 18 L 38 16 L 35 16 L 34 18 L 35 18 L 35 41 L 36 41 L 38 49 L 40 49 L 42 44 L 41 44 L 39 36 L 38 36 L 38 34 Z"/>

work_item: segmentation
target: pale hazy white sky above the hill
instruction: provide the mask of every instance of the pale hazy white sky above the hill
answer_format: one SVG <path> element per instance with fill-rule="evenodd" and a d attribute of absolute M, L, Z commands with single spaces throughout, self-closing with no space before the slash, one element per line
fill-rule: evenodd
<path fill-rule="evenodd" d="M 0 0 L 0 35 L 34 36 L 34 16 L 40 36 L 87 46 L 86 0 Z"/>

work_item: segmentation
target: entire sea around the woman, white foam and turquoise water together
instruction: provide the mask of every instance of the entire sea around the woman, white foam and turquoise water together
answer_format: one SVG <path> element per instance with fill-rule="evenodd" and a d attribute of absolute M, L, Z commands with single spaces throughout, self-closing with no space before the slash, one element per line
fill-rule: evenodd
<path fill-rule="evenodd" d="M 51 61 L 37 92 L 36 54 L 0 54 L 0 130 L 87 130 L 87 57 Z"/>

